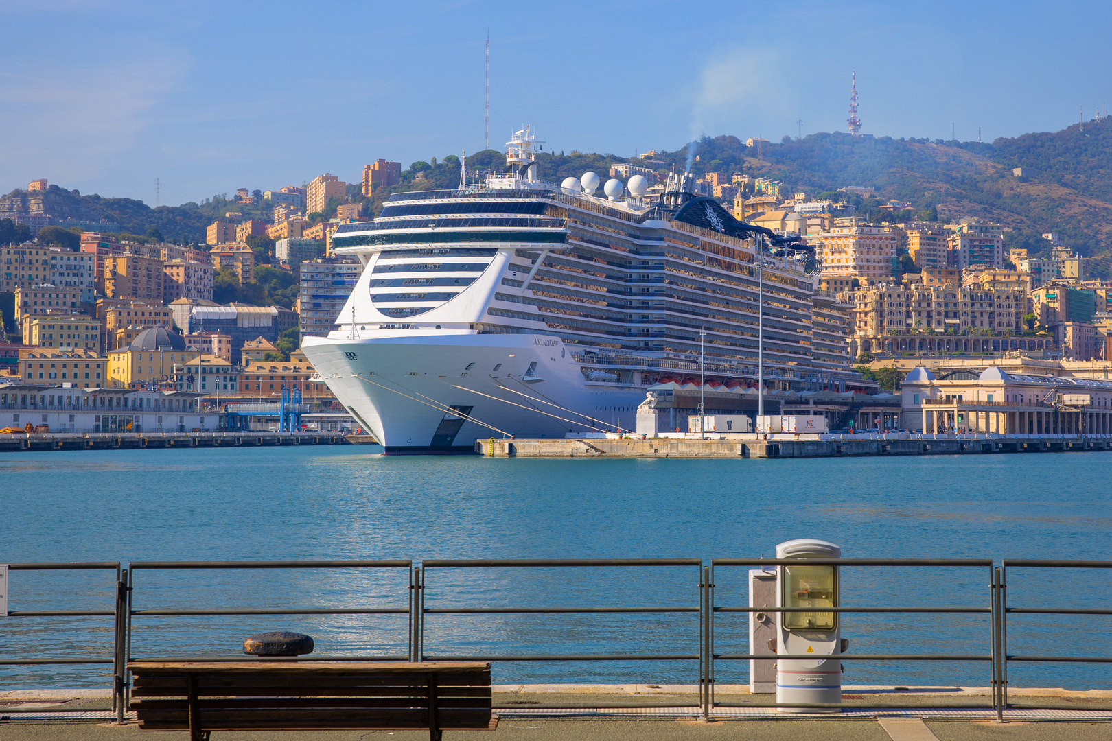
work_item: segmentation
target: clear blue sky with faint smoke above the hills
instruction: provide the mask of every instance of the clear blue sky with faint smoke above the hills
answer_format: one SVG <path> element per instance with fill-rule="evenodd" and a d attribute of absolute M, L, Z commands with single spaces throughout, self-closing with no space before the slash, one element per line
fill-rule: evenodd
<path fill-rule="evenodd" d="M 384 157 L 845 130 L 1053 131 L 1112 103 L 1098 2 L 157 2 L 0 6 L 0 190 L 48 178 L 161 202 L 357 181 Z"/>

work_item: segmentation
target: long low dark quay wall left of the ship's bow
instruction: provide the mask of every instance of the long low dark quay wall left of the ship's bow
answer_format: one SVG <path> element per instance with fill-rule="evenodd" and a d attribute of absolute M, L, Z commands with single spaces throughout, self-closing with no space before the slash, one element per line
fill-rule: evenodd
<path fill-rule="evenodd" d="M 42 432 L 0 434 L 0 452 L 347 444 L 340 432 Z"/>

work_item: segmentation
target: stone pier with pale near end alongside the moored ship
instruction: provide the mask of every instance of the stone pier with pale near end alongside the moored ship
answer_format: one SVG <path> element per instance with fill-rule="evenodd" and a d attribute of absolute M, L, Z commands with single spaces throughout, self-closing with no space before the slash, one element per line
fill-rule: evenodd
<path fill-rule="evenodd" d="M 1104 450 L 1112 450 L 1112 438 L 1020 434 L 738 434 L 715 440 L 607 437 L 475 442 L 475 452 L 492 458 L 837 458 Z"/>

